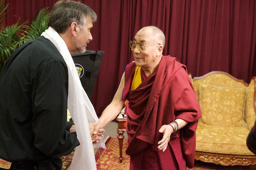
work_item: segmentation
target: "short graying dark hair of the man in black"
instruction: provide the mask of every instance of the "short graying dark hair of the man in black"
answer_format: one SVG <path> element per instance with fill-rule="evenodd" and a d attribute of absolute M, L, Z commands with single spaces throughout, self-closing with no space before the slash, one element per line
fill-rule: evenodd
<path fill-rule="evenodd" d="M 97 20 L 96 13 L 89 6 L 73 0 L 59 0 L 52 8 L 48 26 L 60 34 L 73 22 L 83 29 L 86 17 L 91 17 L 93 23 Z"/>

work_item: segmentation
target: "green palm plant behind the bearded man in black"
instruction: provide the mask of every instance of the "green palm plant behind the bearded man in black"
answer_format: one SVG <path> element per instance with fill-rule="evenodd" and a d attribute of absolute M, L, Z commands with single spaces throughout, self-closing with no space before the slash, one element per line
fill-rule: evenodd
<path fill-rule="evenodd" d="M 6 9 L 9 4 L 5 4 L 5 0 L 0 0 L 0 25 L 5 20 Z M 28 21 L 19 24 L 19 21 L 11 26 L 0 28 L 0 71 L 4 62 L 10 55 L 23 43 L 34 40 L 39 37 L 45 29 L 49 20 L 50 11 L 48 8 L 41 9 L 35 20 L 29 26 Z"/>

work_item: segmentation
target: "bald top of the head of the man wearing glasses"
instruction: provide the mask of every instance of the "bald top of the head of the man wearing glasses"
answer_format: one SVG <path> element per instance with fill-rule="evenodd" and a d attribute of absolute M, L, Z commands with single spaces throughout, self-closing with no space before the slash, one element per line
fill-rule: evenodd
<path fill-rule="evenodd" d="M 156 41 L 160 41 L 160 45 L 165 46 L 165 35 L 163 34 L 162 30 L 157 28 L 156 26 L 145 26 L 143 27 L 142 29 L 140 29 L 140 31 L 138 31 L 137 33 L 139 32 L 142 32 L 142 31 L 150 31 L 152 33 L 152 35 L 155 37 L 155 40 Z"/>

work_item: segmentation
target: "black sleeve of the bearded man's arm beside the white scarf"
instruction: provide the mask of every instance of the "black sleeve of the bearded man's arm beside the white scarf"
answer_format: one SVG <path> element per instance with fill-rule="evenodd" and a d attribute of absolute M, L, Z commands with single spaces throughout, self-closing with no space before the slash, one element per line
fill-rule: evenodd
<path fill-rule="evenodd" d="M 67 66 L 48 61 L 32 77 L 32 130 L 35 147 L 47 156 L 63 156 L 79 145 L 67 128 Z"/>

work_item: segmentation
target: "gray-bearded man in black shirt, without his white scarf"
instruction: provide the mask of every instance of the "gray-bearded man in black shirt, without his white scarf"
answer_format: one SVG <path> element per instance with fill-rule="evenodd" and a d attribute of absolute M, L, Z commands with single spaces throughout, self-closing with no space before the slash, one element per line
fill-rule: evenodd
<path fill-rule="evenodd" d="M 96 17 L 82 3 L 58 1 L 48 25 L 70 53 L 85 52 Z M 61 170 L 58 157 L 79 145 L 66 130 L 67 93 L 67 65 L 51 41 L 38 37 L 12 54 L 0 74 L 0 169 Z"/>

